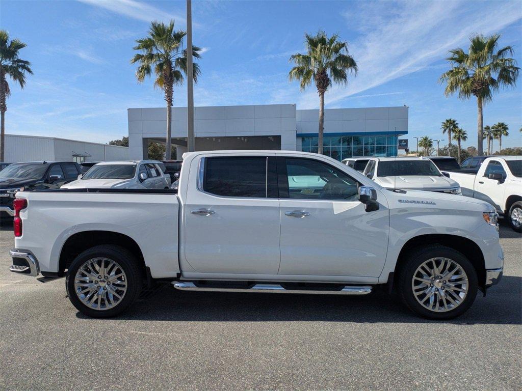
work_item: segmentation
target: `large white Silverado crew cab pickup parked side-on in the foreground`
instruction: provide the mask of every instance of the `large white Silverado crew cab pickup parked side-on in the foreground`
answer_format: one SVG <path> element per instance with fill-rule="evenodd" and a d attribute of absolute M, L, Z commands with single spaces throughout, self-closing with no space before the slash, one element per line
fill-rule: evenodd
<path fill-rule="evenodd" d="M 386 287 L 413 312 L 449 319 L 503 270 L 487 202 L 386 190 L 305 152 L 186 153 L 177 194 L 16 197 L 11 271 L 65 275 L 70 301 L 93 317 L 122 312 L 144 284 L 168 279 L 192 291 L 364 295 Z"/>

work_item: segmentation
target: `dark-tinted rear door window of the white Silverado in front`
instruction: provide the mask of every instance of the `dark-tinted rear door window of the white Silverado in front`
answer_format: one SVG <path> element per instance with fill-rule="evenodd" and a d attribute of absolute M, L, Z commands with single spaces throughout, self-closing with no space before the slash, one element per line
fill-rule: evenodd
<path fill-rule="evenodd" d="M 265 156 L 207 157 L 203 190 L 224 197 L 266 198 Z"/>

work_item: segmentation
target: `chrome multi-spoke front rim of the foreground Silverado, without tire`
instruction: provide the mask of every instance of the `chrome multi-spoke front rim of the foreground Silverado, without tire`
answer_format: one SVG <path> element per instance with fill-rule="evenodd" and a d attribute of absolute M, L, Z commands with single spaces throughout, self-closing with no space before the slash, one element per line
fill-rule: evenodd
<path fill-rule="evenodd" d="M 449 258 L 431 258 L 413 273 L 411 288 L 421 306 L 433 312 L 447 312 L 466 298 L 468 275 Z"/>

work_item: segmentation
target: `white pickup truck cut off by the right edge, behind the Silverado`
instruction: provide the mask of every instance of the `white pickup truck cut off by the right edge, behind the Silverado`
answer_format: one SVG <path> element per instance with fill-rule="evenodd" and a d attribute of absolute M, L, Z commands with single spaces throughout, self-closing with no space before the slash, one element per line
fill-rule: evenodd
<path fill-rule="evenodd" d="M 463 196 L 489 202 L 515 231 L 522 231 L 522 156 L 488 157 L 476 175 L 448 174 Z"/>

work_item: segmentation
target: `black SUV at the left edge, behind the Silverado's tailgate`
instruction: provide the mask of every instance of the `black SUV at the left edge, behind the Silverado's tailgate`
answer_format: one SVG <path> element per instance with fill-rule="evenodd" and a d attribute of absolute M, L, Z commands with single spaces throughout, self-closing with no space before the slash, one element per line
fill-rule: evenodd
<path fill-rule="evenodd" d="M 78 178 L 74 162 L 13 163 L 0 171 L 0 216 L 13 216 L 15 193 L 23 190 L 55 189 Z"/>

